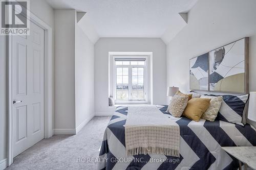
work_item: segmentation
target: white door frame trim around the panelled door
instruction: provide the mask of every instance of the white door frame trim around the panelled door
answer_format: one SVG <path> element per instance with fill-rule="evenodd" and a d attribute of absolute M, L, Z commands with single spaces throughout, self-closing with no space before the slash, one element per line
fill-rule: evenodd
<path fill-rule="evenodd" d="M 45 31 L 44 42 L 44 124 L 45 138 L 53 135 L 53 57 L 52 57 L 52 28 L 30 12 L 30 21 L 34 22 Z M 8 150 L 7 160 L 8 166 L 13 162 L 13 116 L 12 116 L 12 36 L 7 36 L 8 45 Z"/>

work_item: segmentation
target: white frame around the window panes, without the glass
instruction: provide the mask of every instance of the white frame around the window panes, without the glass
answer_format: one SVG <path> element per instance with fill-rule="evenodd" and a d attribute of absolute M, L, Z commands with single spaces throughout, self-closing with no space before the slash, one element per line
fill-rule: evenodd
<path fill-rule="evenodd" d="M 118 65 L 116 66 L 115 60 L 116 59 L 131 59 L 131 60 L 136 60 L 136 59 L 145 59 L 145 65 Z M 132 68 L 133 67 L 143 67 L 144 68 L 144 98 L 145 100 L 116 100 L 116 68 L 129 68 L 129 87 L 132 87 Z M 147 89 L 147 83 L 148 83 L 148 78 L 147 78 L 147 56 L 113 56 L 113 97 L 115 100 L 116 104 L 147 104 L 148 102 L 148 89 Z M 131 99 L 131 94 L 132 89 L 128 89 L 128 98 Z"/>

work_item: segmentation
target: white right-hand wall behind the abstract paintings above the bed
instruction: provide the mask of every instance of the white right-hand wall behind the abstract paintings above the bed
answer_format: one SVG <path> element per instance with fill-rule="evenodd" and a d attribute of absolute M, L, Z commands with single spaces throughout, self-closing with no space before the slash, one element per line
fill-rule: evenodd
<path fill-rule="evenodd" d="M 199 0 L 188 24 L 167 45 L 167 86 L 189 90 L 189 59 L 249 38 L 249 91 L 256 91 L 256 1 Z"/>

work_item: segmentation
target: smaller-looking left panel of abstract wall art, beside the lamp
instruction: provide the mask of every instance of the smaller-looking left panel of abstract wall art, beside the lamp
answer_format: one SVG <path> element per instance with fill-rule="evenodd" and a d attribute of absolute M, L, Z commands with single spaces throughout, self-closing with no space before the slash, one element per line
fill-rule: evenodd
<path fill-rule="evenodd" d="M 189 60 L 191 90 L 208 90 L 209 57 L 208 53 Z"/>

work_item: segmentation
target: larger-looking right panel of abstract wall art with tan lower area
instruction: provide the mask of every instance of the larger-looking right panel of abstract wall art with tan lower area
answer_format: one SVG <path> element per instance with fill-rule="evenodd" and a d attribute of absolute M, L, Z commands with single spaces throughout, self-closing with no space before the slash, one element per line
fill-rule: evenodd
<path fill-rule="evenodd" d="M 209 52 L 209 90 L 245 93 L 245 38 Z"/>

